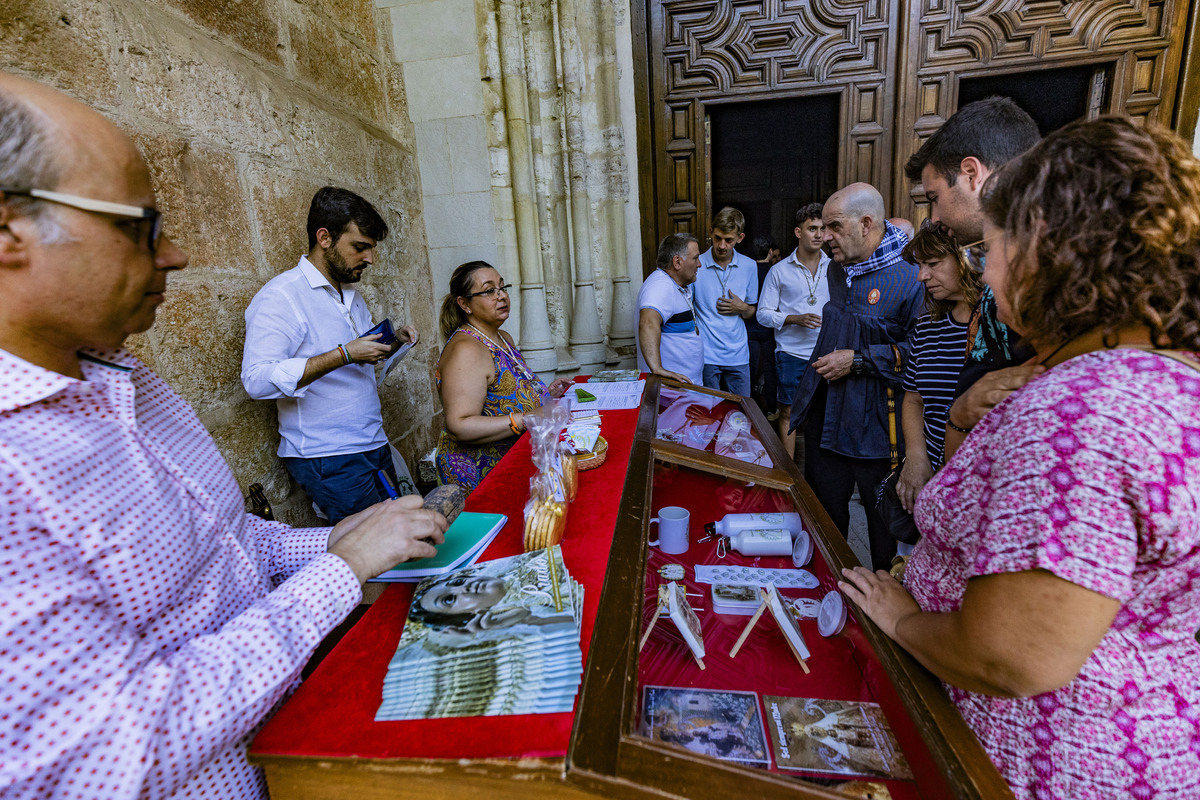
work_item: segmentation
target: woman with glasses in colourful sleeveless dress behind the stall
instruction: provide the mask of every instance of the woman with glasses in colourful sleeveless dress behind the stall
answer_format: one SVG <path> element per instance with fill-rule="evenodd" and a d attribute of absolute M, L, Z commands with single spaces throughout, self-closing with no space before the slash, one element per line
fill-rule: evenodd
<path fill-rule="evenodd" d="M 542 397 L 562 397 L 534 374 L 512 337 L 500 330 L 511 312 L 509 288 L 487 261 L 469 261 L 450 276 L 439 324 L 446 345 L 434 379 L 445 427 L 438 440 L 438 476 L 470 492 L 524 431 L 524 415 Z"/>

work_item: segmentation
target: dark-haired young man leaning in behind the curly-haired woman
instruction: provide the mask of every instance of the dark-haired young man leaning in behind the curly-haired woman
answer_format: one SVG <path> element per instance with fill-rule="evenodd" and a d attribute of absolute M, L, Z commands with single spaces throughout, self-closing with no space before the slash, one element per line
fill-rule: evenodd
<path fill-rule="evenodd" d="M 1033 118 L 1012 100 L 994 96 L 960 108 L 905 164 L 908 180 L 925 190 L 930 218 L 966 245 L 968 260 L 980 271 L 986 248 L 979 207 L 983 185 L 1039 138 Z M 996 297 L 984 287 L 967 325 L 966 363 L 946 429 L 947 459 L 996 403 L 1036 374 L 1036 367 L 1015 366 L 1032 355 L 1033 348 L 996 318 Z"/>

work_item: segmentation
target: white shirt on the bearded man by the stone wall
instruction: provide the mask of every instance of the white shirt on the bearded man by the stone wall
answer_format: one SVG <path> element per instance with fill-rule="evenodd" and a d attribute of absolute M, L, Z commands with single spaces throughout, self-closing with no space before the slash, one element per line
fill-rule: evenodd
<path fill-rule="evenodd" d="M 362 296 L 342 294 L 301 255 L 271 278 L 246 309 L 241 385 L 254 399 L 274 399 L 284 458 L 322 458 L 367 452 L 388 444 L 374 367 L 338 367 L 296 387 L 314 355 L 366 333 L 374 323 Z"/>

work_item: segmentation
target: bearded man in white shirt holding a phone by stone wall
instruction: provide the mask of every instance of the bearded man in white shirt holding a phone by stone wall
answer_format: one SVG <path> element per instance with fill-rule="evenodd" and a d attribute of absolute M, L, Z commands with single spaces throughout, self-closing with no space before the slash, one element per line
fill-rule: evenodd
<path fill-rule="evenodd" d="M 308 253 L 246 309 L 241 383 L 254 399 L 275 401 L 280 458 L 336 524 L 388 499 L 380 470 L 396 486 L 374 365 L 418 335 L 410 326 L 386 342 L 371 333 L 354 290 L 388 236 L 374 206 L 326 186 L 312 198 L 307 231 Z"/>

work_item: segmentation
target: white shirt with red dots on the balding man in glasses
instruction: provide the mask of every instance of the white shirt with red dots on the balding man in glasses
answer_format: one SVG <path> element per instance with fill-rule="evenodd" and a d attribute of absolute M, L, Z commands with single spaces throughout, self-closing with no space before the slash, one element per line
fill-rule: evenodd
<path fill-rule="evenodd" d="M 0 350 L 0 796 L 265 798 L 246 740 L 359 583 L 145 365 L 80 356 Z"/>

